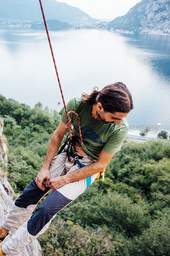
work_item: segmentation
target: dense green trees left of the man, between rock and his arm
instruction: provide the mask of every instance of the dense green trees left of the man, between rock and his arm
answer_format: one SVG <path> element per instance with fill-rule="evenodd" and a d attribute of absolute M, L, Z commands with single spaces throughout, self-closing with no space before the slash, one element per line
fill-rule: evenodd
<path fill-rule="evenodd" d="M 0 112 L 4 120 L 4 134 L 8 140 L 9 182 L 15 192 L 21 192 L 36 177 L 47 153 L 52 133 L 60 119 L 42 110 L 39 102 L 31 109 L 25 104 L 0 95 Z"/>

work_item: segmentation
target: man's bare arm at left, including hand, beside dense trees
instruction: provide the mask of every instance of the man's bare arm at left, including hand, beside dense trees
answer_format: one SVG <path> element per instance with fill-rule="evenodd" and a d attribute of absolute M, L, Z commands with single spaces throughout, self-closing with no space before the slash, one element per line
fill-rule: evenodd
<path fill-rule="evenodd" d="M 37 186 L 42 190 L 45 190 L 45 188 L 48 187 L 48 181 L 50 179 L 49 166 L 60 147 L 64 134 L 67 131 L 65 126 L 66 125 L 61 121 L 58 128 L 53 133 L 49 147 L 48 147 L 45 161 L 42 165 L 40 172 L 37 175 L 37 178 L 35 179 Z M 42 184 L 44 179 L 46 179 L 46 186 Z"/>

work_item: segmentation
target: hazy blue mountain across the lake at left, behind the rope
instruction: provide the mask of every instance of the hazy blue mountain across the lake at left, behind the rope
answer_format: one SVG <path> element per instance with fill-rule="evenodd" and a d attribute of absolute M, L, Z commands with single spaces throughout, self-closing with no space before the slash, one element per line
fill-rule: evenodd
<path fill-rule="evenodd" d="M 59 20 L 68 23 L 96 23 L 88 14 L 77 7 L 72 7 L 55 0 L 42 0 L 47 20 Z M 42 21 L 42 13 L 38 0 L 1 0 L 0 19 L 3 21 Z"/>

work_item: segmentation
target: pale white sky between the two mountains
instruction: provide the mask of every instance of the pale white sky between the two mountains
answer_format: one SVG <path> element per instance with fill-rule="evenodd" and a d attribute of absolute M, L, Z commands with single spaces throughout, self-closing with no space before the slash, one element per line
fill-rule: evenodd
<path fill-rule="evenodd" d="M 57 0 L 78 7 L 94 19 L 111 19 L 126 14 L 141 0 Z"/>

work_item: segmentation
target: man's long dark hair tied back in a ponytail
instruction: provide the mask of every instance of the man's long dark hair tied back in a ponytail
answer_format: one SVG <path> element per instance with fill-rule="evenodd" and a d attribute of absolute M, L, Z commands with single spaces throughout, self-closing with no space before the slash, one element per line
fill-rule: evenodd
<path fill-rule="evenodd" d="M 93 88 L 91 94 L 82 93 L 83 102 L 89 104 L 101 103 L 105 112 L 115 113 L 122 112 L 128 113 L 133 109 L 132 96 L 122 82 L 109 84 L 105 86 L 100 92 L 97 86 Z"/>

